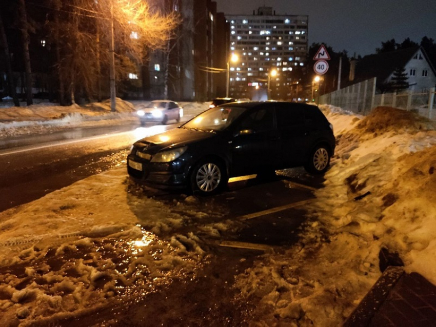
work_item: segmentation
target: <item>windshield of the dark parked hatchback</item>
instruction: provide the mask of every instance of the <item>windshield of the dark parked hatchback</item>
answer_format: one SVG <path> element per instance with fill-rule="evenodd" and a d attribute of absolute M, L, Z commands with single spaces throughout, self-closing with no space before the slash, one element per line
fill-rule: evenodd
<path fill-rule="evenodd" d="M 246 110 L 244 107 L 215 107 L 189 120 L 182 128 L 206 132 L 222 131 Z"/>

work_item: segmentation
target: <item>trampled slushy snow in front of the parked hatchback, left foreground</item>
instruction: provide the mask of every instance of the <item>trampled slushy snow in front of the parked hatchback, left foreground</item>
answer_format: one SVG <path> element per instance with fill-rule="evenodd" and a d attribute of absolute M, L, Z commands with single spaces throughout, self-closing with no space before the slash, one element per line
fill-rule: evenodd
<path fill-rule="evenodd" d="M 186 227 L 224 214 L 197 201 L 155 199 L 123 165 L 0 213 L 0 325 L 48 324 L 192 278 L 207 255 Z"/>

